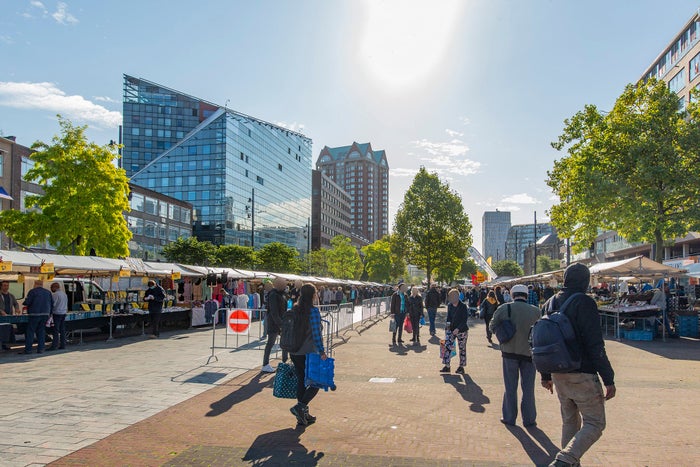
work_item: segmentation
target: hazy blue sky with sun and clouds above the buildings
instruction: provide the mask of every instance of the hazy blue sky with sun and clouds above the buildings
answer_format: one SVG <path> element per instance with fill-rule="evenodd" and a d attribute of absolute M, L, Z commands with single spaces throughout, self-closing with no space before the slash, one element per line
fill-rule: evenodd
<path fill-rule="evenodd" d="M 485 210 L 546 220 L 549 143 L 612 107 L 700 6 L 688 0 L 0 0 L 0 132 L 55 114 L 117 139 L 122 74 L 301 131 L 385 149 L 390 211 L 425 166 Z"/>

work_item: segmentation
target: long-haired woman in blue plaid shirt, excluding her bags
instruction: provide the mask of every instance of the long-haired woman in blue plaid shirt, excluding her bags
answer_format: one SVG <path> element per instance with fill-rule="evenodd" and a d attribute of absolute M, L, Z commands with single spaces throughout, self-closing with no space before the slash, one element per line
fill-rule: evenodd
<path fill-rule="evenodd" d="M 301 287 L 299 300 L 294 305 L 294 311 L 300 315 L 295 319 L 297 323 L 306 324 L 304 343 L 296 352 L 291 352 L 290 357 L 294 362 L 297 374 L 297 405 L 290 412 L 297 418 L 298 425 L 310 425 L 316 421 L 316 417 L 309 414 L 309 402 L 316 397 L 319 388 L 306 386 L 304 376 L 306 373 L 306 355 L 320 354 L 321 360 L 326 360 L 326 351 L 323 347 L 323 334 L 321 329 L 321 313 L 316 304 L 318 296 L 316 287 L 312 284 L 304 284 Z"/>

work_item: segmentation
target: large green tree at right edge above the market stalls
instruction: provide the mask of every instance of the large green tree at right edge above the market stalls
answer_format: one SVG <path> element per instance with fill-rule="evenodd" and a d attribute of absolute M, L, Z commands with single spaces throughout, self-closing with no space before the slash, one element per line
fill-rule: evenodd
<path fill-rule="evenodd" d="M 700 227 L 700 109 L 680 112 L 663 81 L 628 85 L 609 113 L 588 105 L 565 120 L 552 143 L 568 155 L 555 161 L 547 184 L 559 197 L 550 217 L 581 251 L 598 229 L 655 244 Z"/>

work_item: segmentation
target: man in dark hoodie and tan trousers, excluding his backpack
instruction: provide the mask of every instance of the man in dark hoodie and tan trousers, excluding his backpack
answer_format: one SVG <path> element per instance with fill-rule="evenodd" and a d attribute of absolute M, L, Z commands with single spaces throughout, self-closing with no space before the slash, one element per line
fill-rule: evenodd
<path fill-rule="evenodd" d="M 564 287 L 543 307 L 558 310 L 576 292 L 586 292 L 591 273 L 583 264 L 572 264 L 564 272 Z M 550 301 L 553 303 L 550 306 Z M 581 369 L 571 373 L 542 373 L 542 386 L 557 388 L 562 416 L 562 449 L 554 461 L 555 467 L 580 465 L 581 457 L 603 434 L 605 401 L 615 397 L 612 366 L 605 353 L 600 328 L 600 316 L 595 301 L 587 295 L 573 299 L 565 310 L 576 331 Z M 605 392 L 598 375 L 603 379 Z"/>

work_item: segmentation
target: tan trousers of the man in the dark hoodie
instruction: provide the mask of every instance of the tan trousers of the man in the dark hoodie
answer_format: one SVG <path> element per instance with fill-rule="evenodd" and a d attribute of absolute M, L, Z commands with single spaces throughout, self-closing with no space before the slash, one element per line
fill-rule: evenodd
<path fill-rule="evenodd" d="M 605 429 L 605 398 L 597 375 L 554 373 L 561 405 L 561 451 L 557 459 L 574 464 L 593 446 Z"/>

